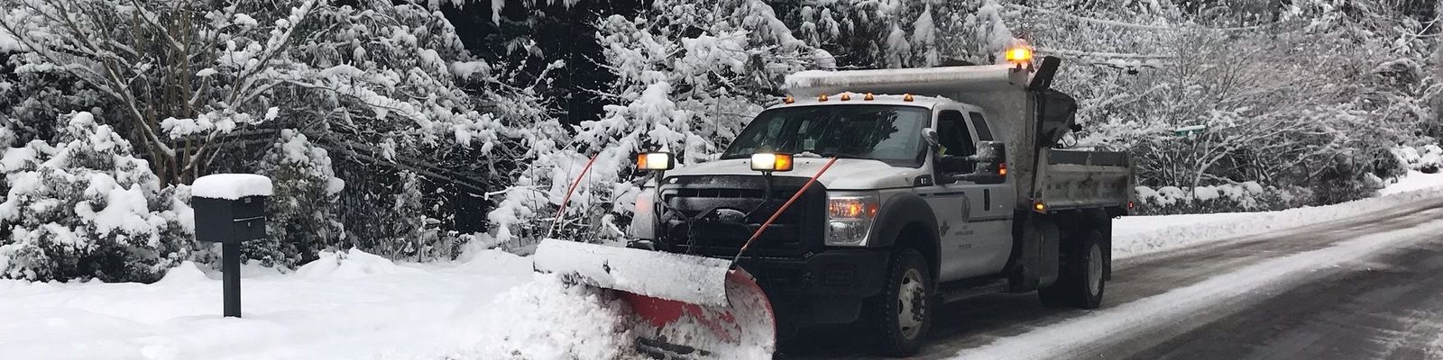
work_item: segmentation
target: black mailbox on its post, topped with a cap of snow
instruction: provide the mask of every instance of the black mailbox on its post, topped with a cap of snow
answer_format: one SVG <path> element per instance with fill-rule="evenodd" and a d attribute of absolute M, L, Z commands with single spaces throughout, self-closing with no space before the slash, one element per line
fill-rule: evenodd
<path fill-rule="evenodd" d="M 268 177 L 257 174 L 202 176 L 190 186 L 195 238 L 221 243 L 225 315 L 241 317 L 241 242 L 266 238 Z"/>

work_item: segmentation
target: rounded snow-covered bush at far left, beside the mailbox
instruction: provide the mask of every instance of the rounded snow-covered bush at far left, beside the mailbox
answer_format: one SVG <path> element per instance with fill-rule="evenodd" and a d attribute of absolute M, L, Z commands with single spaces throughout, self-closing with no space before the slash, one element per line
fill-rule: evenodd
<path fill-rule="evenodd" d="M 0 153 L 0 278 L 156 281 L 185 261 L 193 220 L 185 186 L 160 187 L 144 160 L 89 112 L 61 118 L 55 144 Z"/>

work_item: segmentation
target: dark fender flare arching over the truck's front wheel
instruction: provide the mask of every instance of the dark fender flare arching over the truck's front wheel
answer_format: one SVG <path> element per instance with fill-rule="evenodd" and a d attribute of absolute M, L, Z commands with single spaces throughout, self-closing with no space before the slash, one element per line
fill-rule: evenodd
<path fill-rule="evenodd" d="M 887 248 L 898 243 L 898 238 L 908 225 L 919 223 L 922 225 L 929 239 L 926 243 L 921 243 L 922 255 L 931 262 L 932 274 L 935 276 L 938 271 L 937 258 L 941 253 L 941 243 L 937 233 L 937 215 L 932 213 L 932 206 L 922 200 L 921 196 L 913 193 L 902 193 L 892 196 L 877 212 L 877 220 L 872 226 L 872 233 L 867 236 L 870 246 Z"/>

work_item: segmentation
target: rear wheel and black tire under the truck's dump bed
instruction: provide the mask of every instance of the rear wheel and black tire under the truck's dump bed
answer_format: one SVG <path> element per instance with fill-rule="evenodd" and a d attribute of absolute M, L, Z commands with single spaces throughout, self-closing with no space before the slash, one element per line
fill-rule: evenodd
<path fill-rule="evenodd" d="M 1098 308 L 1107 291 L 1102 233 L 1088 232 L 1081 242 L 1065 242 L 1058 281 L 1038 289 L 1042 304 L 1049 307 Z M 1071 246 L 1069 246 L 1071 245 Z"/>

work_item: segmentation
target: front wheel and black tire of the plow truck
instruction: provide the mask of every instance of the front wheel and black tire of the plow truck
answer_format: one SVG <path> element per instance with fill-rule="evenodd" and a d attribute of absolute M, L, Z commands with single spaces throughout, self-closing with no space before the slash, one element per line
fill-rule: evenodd
<path fill-rule="evenodd" d="M 926 259 L 915 249 L 900 249 L 892 255 L 882 294 L 867 302 L 869 323 L 876 331 L 877 353 L 905 357 L 922 348 L 922 341 L 932 328 L 932 312 L 937 311 L 932 274 L 928 269 Z M 909 301 L 902 304 L 903 294 L 908 292 Z M 915 314 L 911 321 L 905 321 L 903 311 Z"/>

